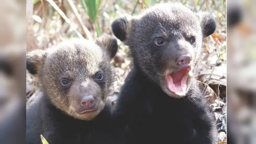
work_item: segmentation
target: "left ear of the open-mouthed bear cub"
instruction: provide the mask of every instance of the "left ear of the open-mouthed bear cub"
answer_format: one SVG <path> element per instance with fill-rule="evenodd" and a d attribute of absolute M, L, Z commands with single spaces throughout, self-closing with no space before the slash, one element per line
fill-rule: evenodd
<path fill-rule="evenodd" d="M 129 37 L 131 30 L 132 16 L 127 15 L 119 17 L 111 24 L 112 32 L 122 42 L 125 42 Z"/>

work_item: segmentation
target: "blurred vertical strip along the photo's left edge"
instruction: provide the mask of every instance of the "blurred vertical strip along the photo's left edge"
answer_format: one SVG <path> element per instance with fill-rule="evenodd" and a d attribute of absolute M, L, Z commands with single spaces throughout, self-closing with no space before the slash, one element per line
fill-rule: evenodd
<path fill-rule="evenodd" d="M 0 143 L 25 144 L 26 3 L 0 3 Z"/>

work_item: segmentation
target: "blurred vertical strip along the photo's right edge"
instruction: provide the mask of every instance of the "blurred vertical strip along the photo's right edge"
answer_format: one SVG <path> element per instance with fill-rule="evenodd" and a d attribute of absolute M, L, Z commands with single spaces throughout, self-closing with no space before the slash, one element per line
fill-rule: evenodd
<path fill-rule="evenodd" d="M 227 137 L 231 143 L 256 144 L 256 4 L 228 0 L 227 5 Z"/>

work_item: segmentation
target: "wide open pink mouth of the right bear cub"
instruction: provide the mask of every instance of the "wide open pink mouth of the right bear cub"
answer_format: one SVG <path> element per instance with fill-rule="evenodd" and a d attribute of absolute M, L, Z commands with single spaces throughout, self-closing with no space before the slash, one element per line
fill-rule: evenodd
<path fill-rule="evenodd" d="M 180 70 L 168 74 L 165 77 L 167 89 L 179 96 L 184 96 L 187 90 L 188 72 L 191 68 L 181 68 Z"/>

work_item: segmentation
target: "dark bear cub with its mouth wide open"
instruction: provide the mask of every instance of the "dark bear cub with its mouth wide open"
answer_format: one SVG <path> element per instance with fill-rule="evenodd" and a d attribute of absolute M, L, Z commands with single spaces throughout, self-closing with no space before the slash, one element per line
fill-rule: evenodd
<path fill-rule="evenodd" d="M 202 40 L 216 29 L 207 12 L 156 4 L 112 23 L 134 60 L 113 116 L 129 144 L 216 144 L 216 128 L 197 84 Z"/>

